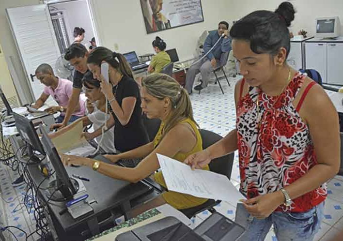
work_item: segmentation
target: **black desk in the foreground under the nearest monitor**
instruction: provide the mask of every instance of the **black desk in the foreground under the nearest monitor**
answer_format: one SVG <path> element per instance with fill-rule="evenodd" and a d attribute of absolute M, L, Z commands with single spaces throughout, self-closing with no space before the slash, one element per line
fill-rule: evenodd
<path fill-rule="evenodd" d="M 95 159 L 109 163 L 102 156 L 97 156 Z M 33 184 L 37 187 L 44 177 L 40 174 L 37 165 L 30 165 L 28 169 Z M 117 217 L 125 215 L 125 219 L 129 219 L 133 208 L 160 194 L 144 181 L 129 183 L 112 179 L 86 166 L 66 167 L 66 170 L 69 176 L 76 174 L 90 179 L 89 182 L 83 181 L 83 184 L 89 194 L 89 200 L 95 199 L 97 202 L 91 205 L 94 213 L 73 219 L 68 212 L 60 215 L 66 202 L 50 201 L 47 205 L 49 223 L 52 224 L 50 229 L 55 231 L 59 240 L 78 241 L 94 236 L 104 228 L 113 226 L 113 220 Z M 43 182 L 42 188 L 46 187 L 48 182 L 48 180 Z M 36 195 L 47 201 L 44 191 L 40 190 Z"/>

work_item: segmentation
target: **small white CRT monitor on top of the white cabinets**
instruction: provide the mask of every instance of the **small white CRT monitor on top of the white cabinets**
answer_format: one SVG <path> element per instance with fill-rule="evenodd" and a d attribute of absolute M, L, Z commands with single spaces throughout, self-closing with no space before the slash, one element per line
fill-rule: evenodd
<path fill-rule="evenodd" d="M 341 35 L 341 23 L 339 17 L 316 18 L 315 36 L 319 38 L 336 38 Z"/>

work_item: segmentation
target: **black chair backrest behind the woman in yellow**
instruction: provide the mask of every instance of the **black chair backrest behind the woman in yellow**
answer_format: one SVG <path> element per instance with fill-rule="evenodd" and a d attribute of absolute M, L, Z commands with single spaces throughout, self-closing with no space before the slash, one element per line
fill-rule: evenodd
<path fill-rule="evenodd" d="M 212 144 L 218 142 L 223 137 L 219 136 L 218 134 L 207 131 L 204 129 L 200 129 L 200 135 L 203 139 L 203 149 L 211 146 Z M 229 179 L 231 179 L 231 172 L 232 167 L 234 165 L 234 153 L 216 158 L 212 160 L 209 164 L 210 170 L 222 175 L 227 176 Z"/>

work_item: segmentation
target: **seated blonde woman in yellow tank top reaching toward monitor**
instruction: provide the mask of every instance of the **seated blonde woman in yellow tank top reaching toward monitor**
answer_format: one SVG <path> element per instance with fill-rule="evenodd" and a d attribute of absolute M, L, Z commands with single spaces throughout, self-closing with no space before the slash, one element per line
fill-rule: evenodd
<path fill-rule="evenodd" d="M 150 176 L 160 167 L 156 153 L 183 162 L 187 156 L 202 151 L 203 142 L 193 119 L 188 93 L 172 77 L 162 74 L 149 75 L 142 81 L 140 95 L 141 107 L 147 117 L 161 120 L 155 139 L 131 151 L 106 155 L 113 163 L 120 159 L 144 158 L 136 167 L 121 167 L 76 156 L 63 156 L 63 162 L 66 165 L 75 164 L 93 168 L 95 166 L 98 172 L 111 178 L 137 182 Z M 205 166 L 203 169 L 209 168 Z M 156 182 L 167 187 L 160 171 L 153 177 Z M 169 191 L 134 212 L 139 214 L 164 203 L 176 209 L 187 209 L 206 201 L 207 199 L 204 198 Z"/>

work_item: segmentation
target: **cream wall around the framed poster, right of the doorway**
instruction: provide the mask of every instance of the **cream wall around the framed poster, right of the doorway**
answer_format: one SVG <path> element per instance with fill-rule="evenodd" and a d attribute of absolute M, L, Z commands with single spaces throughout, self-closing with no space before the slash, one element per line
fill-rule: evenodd
<path fill-rule="evenodd" d="M 232 0 L 202 0 L 204 22 L 147 34 L 139 0 L 91 0 L 96 29 L 103 46 L 138 55 L 153 53 L 152 41 L 160 36 L 167 49 L 176 48 L 180 60 L 193 57 L 196 42 L 204 30 L 214 30 L 221 20 L 229 21 Z"/>

